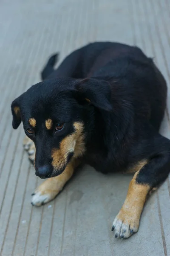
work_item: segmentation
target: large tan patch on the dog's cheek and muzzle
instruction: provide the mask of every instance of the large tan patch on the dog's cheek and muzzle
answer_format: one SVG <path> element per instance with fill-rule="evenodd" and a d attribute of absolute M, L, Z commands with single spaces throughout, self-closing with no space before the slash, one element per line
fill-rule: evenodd
<path fill-rule="evenodd" d="M 62 169 L 66 164 L 68 154 L 74 152 L 74 158 L 81 156 L 85 152 L 83 123 L 74 123 L 75 132 L 66 136 L 60 143 L 59 149 L 54 148 L 51 152 L 54 169 Z"/>

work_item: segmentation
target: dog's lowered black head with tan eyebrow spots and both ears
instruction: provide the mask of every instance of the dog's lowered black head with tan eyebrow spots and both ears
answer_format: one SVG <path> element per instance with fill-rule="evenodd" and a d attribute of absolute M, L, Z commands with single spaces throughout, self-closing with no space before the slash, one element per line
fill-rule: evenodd
<path fill-rule="evenodd" d="M 34 141 L 36 175 L 61 174 L 71 158 L 85 154 L 94 108 L 111 111 L 111 88 L 98 79 L 49 79 L 33 85 L 12 102 L 12 126 L 23 122 Z"/>

